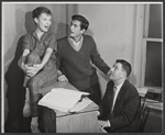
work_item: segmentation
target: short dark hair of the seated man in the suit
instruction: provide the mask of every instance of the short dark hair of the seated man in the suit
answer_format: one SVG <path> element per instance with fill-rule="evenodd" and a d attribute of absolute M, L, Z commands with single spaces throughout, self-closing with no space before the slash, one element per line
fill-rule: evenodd
<path fill-rule="evenodd" d="M 124 59 L 117 59 L 116 63 L 120 63 L 122 65 L 123 70 L 125 70 L 125 72 L 127 72 L 127 77 L 129 77 L 129 75 L 131 74 L 131 70 L 132 70 L 131 64 Z"/>

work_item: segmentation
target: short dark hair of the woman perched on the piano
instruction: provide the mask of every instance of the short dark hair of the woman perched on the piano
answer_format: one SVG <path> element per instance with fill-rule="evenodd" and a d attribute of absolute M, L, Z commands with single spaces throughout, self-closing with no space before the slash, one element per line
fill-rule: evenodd
<path fill-rule="evenodd" d="M 52 15 L 52 12 L 50 9 L 45 7 L 37 7 L 36 9 L 33 10 L 32 16 L 33 19 L 38 18 L 42 13 L 46 13 L 47 15 Z"/>

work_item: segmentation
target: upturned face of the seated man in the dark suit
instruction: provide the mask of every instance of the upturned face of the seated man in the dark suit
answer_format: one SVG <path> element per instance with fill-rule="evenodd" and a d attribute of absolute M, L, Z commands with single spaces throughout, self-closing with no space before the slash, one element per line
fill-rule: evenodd
<path fill-rule="evenodd" d="M 120 80 L 124 77 L 124 70 L 120 63 L 116 63 L 113 67 L 110 69 L 110 79 L 111 80 Z"/>

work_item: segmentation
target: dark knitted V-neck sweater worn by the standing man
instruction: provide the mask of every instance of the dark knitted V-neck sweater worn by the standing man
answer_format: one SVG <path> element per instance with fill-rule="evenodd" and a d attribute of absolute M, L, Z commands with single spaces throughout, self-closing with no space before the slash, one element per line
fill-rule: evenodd
<path fill-rule="evenodd" d="M 84 35 L 81 48 L 77 52 L 67 37 L 57 41 L 61 67 L 69 82 L 79 90 L 87 89 L 98 82 L 96 69 L 90 60 L 105 74 L 110 69 L 97 52 L 96 43 L 89 35 Z"/>

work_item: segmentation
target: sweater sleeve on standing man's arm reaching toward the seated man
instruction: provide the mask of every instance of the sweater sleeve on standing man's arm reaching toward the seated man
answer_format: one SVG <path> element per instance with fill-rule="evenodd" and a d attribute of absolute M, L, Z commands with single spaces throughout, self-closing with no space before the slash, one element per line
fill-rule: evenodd
<path fill-rule="evenodd" d="M 105 63 L 105 60 L 101 58 L 100 54 L 97 50 L 96 43 L 94 38 L 91 37 L 91 45 L 92 45 L 92 50 L 91 50 L 91 61 L 103 72 L 107 74 L 110 69 L 110 67 Z"/>

